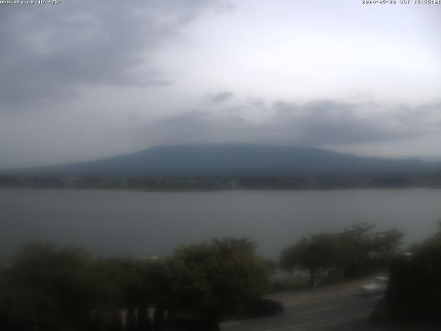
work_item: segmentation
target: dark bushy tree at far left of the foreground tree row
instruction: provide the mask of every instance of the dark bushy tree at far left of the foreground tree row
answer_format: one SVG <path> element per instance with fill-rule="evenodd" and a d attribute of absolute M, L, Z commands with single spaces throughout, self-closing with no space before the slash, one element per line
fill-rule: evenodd
<path fill-rule="evenodd" d="M 89 263 L 79 248 L 23 246 L 5 281 L 10 315 L 28 323 L 23 330 L 87 330 L 92 325 L 92 292 L 84 272 Z"/>

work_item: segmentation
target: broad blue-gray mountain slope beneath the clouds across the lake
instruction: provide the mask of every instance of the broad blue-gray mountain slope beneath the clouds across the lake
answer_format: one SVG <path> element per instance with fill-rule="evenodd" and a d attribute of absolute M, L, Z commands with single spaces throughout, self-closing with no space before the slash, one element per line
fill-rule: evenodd
<path fill-rule="evenodd" d="M 116 157 L 23 170 L 41 176 L 283 176 L 308 174 L 427 174 L 439 163 L 358 157 L 298 146 L 211 144 L 156 146 Z M 17 172 L 16 172 L 17 174 Z"/>

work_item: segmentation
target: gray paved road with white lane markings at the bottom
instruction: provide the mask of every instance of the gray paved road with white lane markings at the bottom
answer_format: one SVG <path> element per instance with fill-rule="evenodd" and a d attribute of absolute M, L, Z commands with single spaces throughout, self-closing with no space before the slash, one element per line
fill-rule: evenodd
<path fill-rule="evenodd" d="M 382 330 L 369 320 L 380 297 L 360 292 L 316 299 L 285 306 L 276 317 L 234 321 L 221 325 L 222 331 L 303 331 L 303 330 Z"/>

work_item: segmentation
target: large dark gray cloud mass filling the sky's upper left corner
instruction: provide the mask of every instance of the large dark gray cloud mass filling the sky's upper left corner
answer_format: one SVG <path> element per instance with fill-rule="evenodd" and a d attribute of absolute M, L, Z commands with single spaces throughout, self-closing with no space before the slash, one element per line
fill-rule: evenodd
<path fill-rule="evenodd" d="M 2 6 L 0 110 L 65 100 L 88 86 L 163 86 L 172 77 L 145 61 L 209 0 L 65 1 Z"/>

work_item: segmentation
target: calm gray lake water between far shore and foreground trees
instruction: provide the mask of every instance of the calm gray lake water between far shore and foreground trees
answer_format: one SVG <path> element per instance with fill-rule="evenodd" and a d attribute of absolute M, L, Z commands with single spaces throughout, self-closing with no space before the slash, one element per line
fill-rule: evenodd
<path fill-rule="evenodd" d="M 311 232 L 357 221 L 396 226 L 408 243 L 441 219 L 441 190 L 127 192 L 0 189 L 0 254 L 21 243 L 52 241 L 96 254 L 166 255 L 211 237 L 248 237 L 278 257 Z"/>

